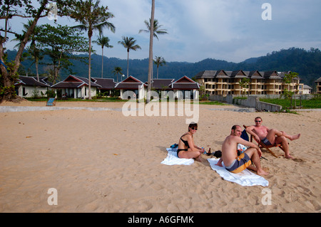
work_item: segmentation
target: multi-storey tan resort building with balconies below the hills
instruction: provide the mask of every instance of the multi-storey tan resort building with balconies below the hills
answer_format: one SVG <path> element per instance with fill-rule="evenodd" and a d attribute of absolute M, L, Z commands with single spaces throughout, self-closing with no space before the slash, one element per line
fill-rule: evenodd
<path fill-rule="evenodd" d="M 279 95 L 285 88 L 302 94 L 300 78 L 293 79 L 290 84 L 283 82 L 287 73 L 290 72 L 204 70 L 195 75 L 195 80 L 203 86 L 203 93 L 208 95 Z M 242 87 L 240 83 L 245 81 L 243 78 L 248 79 L 248 85 Z"/>

